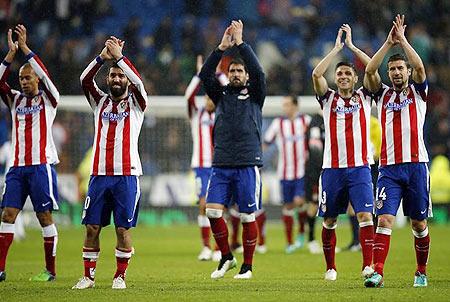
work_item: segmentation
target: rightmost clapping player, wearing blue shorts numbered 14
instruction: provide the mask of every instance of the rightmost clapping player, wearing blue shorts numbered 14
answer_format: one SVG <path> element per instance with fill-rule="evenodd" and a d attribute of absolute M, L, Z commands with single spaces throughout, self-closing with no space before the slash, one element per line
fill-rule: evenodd
<path fill-rule="evenodd" d="M 383 46 L 366 67 L 371 91 L 377 92 L 378 120 L 382 143 L 376 191 L 376 229 L 373 251 L 375 273 L 365 280 L 367 287 L 383 287 L 383 268 L 389 251 L 392 226 L 403 199 L 403 211 L 411 218 L 417 268 L 414 287 L 427 286 L 427 261 L 430 249 L 427 218 L 432 215 L 428 154 L 423 139 L 427 109 L 428 82 L 425 67 L 405 36 L 405 17 L 397 15 Z M 392 86 L 381 83 L 377 69 L 387 52 L 399 45 L 406 54 L 388 59 Z M 412 79 L 409 82 L 409 79 Z"/>

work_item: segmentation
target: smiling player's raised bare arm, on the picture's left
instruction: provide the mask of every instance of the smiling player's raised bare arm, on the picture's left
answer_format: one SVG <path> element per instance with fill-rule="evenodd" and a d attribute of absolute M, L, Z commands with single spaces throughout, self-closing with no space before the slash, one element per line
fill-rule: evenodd
<path fill-rule="evenodd" d="M 319 97 L 324 96 L 328 91 L 328 83 L 323 75 L 330 66 L 331 61 L 344 47 L 344 43 L 341 41 L 342 33 L 343 30 L 339 29 L 333 49 L 317 64 L 312 72 L 314 91 Z"/>

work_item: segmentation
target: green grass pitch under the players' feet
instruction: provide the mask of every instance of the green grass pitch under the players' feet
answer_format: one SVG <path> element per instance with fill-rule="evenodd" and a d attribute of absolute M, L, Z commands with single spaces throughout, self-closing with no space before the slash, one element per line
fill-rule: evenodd
<path fill-rule="evenodd" d="M 217 263 L 197 261 L 199 230 L 189 224 L 133 230 L 136 254 L 124 291 L 111 289 L 115 235 L 112 227 L 105 228 L 96 287 L 75 291 L 70 288 L 83 272 L 83 232 L 81 227 L 59 229 L 55 282 L 28 281 L 43 268 L 39 230 L 29 230 L 24 241 L 14 242 L 7 260 L 7 280 L 0 283 L 0 301 L 450 301 L 449 225 L 430 227 L 428 288 L 412 287 L 415 254 L 411 230 L 395 229 L 383 289 L 363 287 L 360 253 L 338 253 L 338 280 L 324 281 L 323 255 L 311 255 L 305 249 L 284 254 L 281 224 L 268 225 L 269 251 L 255 255 L 253 279 L 234 280 L 235 269 L 224 279 L 213 281 L 209 275 Z M 346 223 L 338 227 L 338 246 L 349 242 L 349 233 Z M 240 265 L 242 255 L 236 256 Z"/>

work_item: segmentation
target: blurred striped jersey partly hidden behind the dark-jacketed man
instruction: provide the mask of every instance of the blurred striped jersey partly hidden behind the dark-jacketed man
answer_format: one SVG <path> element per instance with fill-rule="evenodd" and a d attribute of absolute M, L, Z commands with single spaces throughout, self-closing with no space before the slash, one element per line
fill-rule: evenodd
<path fill-rule="evenodd" d="M 195 95 L 200 89 L 201 80 L 194 76 L 189 83 L 185 98 L 188 102 L 188 114 L 192 132 L 192 168 L 210 168 L 213 159 L 212 131 L 214 128 L 214 112 L 208 112 L 204 107 L 197 107 Z"/>

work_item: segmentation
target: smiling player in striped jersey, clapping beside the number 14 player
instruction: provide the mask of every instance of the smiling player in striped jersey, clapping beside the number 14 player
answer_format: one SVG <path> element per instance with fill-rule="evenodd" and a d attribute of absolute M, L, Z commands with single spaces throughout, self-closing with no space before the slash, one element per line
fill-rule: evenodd
<path fill-rule="evenodd" d="M 344 24 L 338 31 L 334 48 L 320 61 L 312 73 L 314 90 L 323 110 L 325 150 L 319 189 L 319 213 L 323 217 L 322 245 L 327 271 L 325 280 L 337 278 L 335 248 L 337 216 L 345 213 L 350 201 L 360 226 L 362 275 L 373 273 L 373 195 L 369 165 L 373 163 L 370 149 L 371 95 L 364 88 L 355 90 L 358 76 L 351 63 L 339 62 L 335 67 L 337 91 L 329 88 L 323 76 L 344 43 L 365 64 L 370 58 L 353 45 L 351 28 Z"/>

